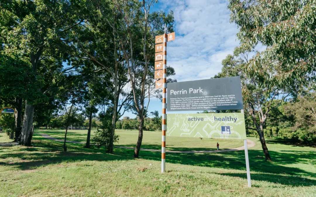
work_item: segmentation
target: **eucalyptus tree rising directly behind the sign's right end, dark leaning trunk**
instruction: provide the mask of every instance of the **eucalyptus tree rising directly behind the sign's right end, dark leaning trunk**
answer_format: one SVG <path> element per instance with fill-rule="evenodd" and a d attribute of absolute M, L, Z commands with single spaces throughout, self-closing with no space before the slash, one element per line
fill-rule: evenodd
<path fill-rule="evenodd" d="M 222 72 L 218 73 L 215 78 L 240 76 L 246 130 L 257 132 L 265 159 L 271 161 L 264 136 L 267 121 L 278 119 L 273 112 L 287 101 L 290 95 L 296 95 L 295 92 L 287 92 L 286 87 L 275 86 L 272 90 L 263 88 L 260 83 L 265 83 L 266 80 L 269 80 L 268 77 L 258 81 L 257 78 L 247 75 L 249 72 L 247 66 L 252 60 L 248 59 L 248 55 L 248 51 L 236 47 L 234 55 L 228 55 L 222 61 Z"/>

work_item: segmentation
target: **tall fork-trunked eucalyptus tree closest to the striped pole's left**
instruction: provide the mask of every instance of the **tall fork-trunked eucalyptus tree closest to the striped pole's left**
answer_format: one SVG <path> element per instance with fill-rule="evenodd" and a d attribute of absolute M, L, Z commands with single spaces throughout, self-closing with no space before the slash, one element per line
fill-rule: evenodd
<path fill-rule="evenodd" d="M 157 1 L 113 1 L 114 7 L 122 16 L 124 25 L 120 31 L 125 32 L 121 49 L 128 66 L 130 86 L 133 92 L 134 109 L 139 117 L 138 140 L 134 157 L 138 158 L 143 140 L 144 119 L 146 118 L 149 99 L 155 94 L 153 79 L 155 36 L 173 31 L 173 12 L 150 13 L 153 3 Z M 170 70 L 170 69 L 168 69 Z M 168 72 L 167 72 L 168 74 Z M 171 75 L 174 74 L 171 72 Z M 145 99 L 148 99 L 147 107 Z"/>

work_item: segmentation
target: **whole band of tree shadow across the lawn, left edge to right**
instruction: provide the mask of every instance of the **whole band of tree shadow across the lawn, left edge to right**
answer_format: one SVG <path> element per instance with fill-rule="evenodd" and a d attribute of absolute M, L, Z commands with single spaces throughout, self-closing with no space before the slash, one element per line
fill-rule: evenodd
<path fill-rule="evenodd" d="M 63 142 L 45 140 L 40 136 L 34 136 L 32 147 L 18 147 L 14 151 L 8 151 L 5 147 L 0 149 L 0 165 L 12 166 L 13 170 L 34 169 L 43 165 L 57 164 L 61 162 L 76 162 L 82 160 L 112 161 L 133 159 L 132 149 L 114 148 L 113 154 L 106 154 L 104 148 L 87 149 L 82 144 L 67 143 L 67 152 L 63 151 Z M 153 146 L 152 148 L 155 148 Z M 179 148 L 177 148 L 179 150 Z M 187 150 L 187 149 L 186 149 Z M 315 173 L 296 167 L 288 167 L 289 164 L 311 164 L 316 161 L 316 152 L 312 151 L 269 151 L 274 162 L 266 162 L 261 150 L 249 150 L 250 171 L 252 180 L 280 183 L 291 186 L 316 185 Z M 141 151 L 141 159 L 161 161 L 161 153 L 155 151 Z M 3 162 L 4 161 L 4 162 Z M 167 153 L 166 162 L 183 165 L 195 165 L 206 167 L 218 167 L 231 170 L 246 170 L 244 151 L 226 153 Z M 312 164 L 314 165 L 314 164 Z M 231 177 L 246 178 L 246 173 L 221 173 Z M 304 176 L 304 177 L 301 177 Z"/>

